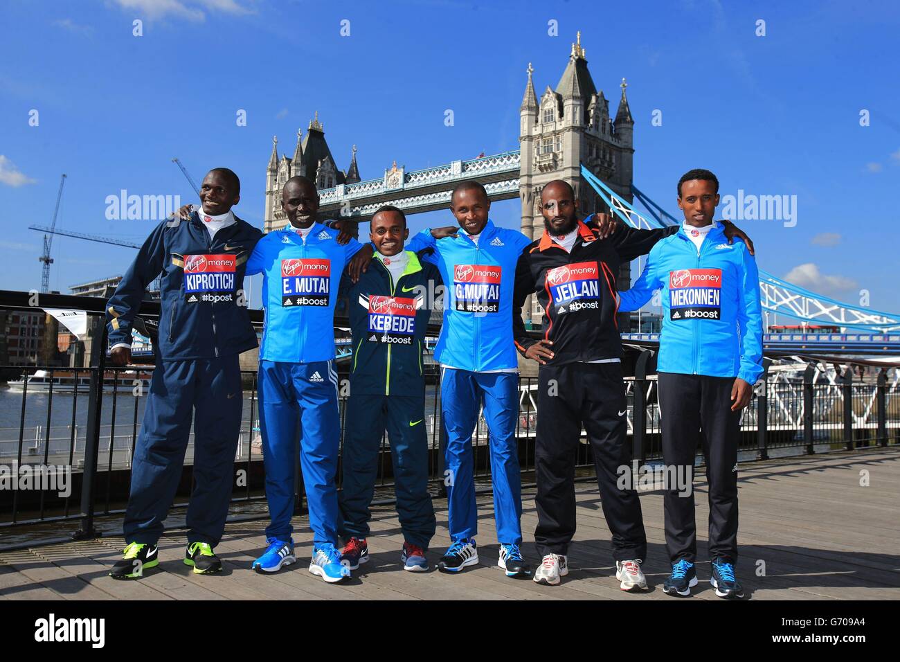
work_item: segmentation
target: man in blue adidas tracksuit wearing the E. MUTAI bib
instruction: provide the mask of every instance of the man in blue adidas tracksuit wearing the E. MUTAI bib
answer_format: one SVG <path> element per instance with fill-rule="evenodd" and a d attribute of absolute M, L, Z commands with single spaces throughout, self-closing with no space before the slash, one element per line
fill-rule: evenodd
<path fill-rule="evenodd" d="M 341 273 L 357 253 L 368 261 L 372 249 L 356 240 L 341 245 L 337 230 L 317 222 L 319 194 L 306 177 L 288 179 L 282 209 L 288 225 L 259 240 L 247 261 L 247 275 L 264 275 L 259 424 L 272 518 L 266 551 L 253 567 L 275 572 L 296 560 L 291 516 L 299 433 L 313 531 L 310 572 L 339 582 L 349 569 L 337 548 L 340 416 L 333 319 Z"/>

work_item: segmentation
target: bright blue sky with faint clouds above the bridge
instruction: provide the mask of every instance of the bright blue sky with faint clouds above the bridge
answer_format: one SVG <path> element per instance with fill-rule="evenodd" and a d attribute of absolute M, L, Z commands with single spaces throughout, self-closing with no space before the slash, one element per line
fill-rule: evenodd
<path fill-rule="evenodd" d="M 0 288 L 40 287 L 41 235 L 27 226 L 49 224 L 62 172 L 59 228 L 140 241 L 154 222 L 109 221 L 105 198 L 189 201 L 174 156 L 198 181 L 236 170 L 235 211 L 261 225 L 272 136 L 293 153 L 315 111 L 339 168 L 357 145 L 364 179 L 393 159 L 416 169 L 517 149 L 528 62 L 538 94 L 556 86 L 581 30 L 614 112 L 628 79 L 644 193 L 677 214 L 675 183 L 702 167 L 723 195 L 796 195 L 793 227 L 740 222 L 761 268 L 900 312 L 896 3 L 13 0 L 0 25 Z M 518 228 L 518 200 L 491 211 Z M 410 228 L 450 222 L 421 214 Z M 121 273 L 133 256 L 57 237 L 51 288 Z"/>

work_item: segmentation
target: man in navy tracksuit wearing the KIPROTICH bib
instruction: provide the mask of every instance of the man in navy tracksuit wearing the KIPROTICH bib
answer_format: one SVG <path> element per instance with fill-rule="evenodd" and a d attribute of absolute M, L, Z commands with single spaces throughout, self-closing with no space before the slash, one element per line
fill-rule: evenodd
<path fill-rule="evenodd" d="M 193 491 L 184 563 L 218 572 L 213 553 L 228 515 L 242 414 L 238 355 L 257 347 L 243 292 L 247 257 L 262 232 L 230 210 L 240 182 L 228 168 L 203 179 L 202 209 L 161 222 L 106 309 L 112 362 L 130 363 L 131 324 L 148 284 L 160 276 L 157 367 L 131 467 L 124 557 L 116 579 L 158 565 L 157 540 L 181 480 L 193 416 Z"/>

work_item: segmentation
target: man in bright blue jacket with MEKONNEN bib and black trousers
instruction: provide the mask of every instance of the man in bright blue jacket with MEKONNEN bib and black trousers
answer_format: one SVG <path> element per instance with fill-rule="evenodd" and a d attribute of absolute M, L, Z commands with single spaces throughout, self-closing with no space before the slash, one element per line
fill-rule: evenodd
<path fill-rule="evenodd" d="M 708 170 L 690 170 L 679 181 L 684 225 L 650 251 L 635 286 L 620 292 L 619 310 L 634 311 L 662 290 L 662 335 L 657 361 L 662 417 L 662 457 L 684 476 L 668 485 L 666 547 L 671 576 L 667 594 L 690 594 L 697 585 L 694 456 L 702 442 L 709 482 L 710 583 L 720 597 L 742 597 L 734 577 L 737 559 L 737 447 L 741 410 L 762 374 L 760 282 L 743 242 L 729 244 L 713 214 L 719 183 Z"/>

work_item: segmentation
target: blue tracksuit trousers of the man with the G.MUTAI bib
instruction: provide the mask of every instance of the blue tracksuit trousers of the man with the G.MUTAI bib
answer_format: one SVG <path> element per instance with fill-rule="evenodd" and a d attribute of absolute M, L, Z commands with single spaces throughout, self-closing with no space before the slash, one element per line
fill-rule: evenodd
<path fill-rule="evenodd" d="M 450 537 L 471 538 L 478 532 L 475 505 L 472 435 L 480 405 L 488 423 L 494 517 L 498 542 L 522 542 L 522 483 L 519 476 L 516 420 L 518 375 L 479 373 L 445 368 L 441 376 L 441 417 L 446 430 L 446 479 Z"/>

